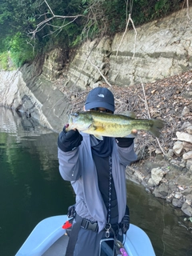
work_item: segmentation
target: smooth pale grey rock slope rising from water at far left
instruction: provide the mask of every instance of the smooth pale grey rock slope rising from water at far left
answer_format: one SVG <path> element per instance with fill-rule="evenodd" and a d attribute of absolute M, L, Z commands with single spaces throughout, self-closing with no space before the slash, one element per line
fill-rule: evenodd
<path fill-rule="evenodd" d="M 60 131 L 70 111 L 69 100 L 56 86 L 37 74 L 37 66 L 22 71 L 1 71 L 0 106 L 6 106 L 35 118 L 42 126 Z"/>

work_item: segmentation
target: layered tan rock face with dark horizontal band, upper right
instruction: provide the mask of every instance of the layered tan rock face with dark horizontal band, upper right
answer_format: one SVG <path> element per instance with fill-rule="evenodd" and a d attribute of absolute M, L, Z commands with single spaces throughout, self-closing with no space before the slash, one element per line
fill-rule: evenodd
<path fill-rule="evenodd" d="M 191 22 L 181 10 L 136 31 L 86 42 L 70 63 L 66 82 L 84 88 L 103 74 L 111 85 L 129 86 L 180 74 L 192 65 L 191 36 Z"/>

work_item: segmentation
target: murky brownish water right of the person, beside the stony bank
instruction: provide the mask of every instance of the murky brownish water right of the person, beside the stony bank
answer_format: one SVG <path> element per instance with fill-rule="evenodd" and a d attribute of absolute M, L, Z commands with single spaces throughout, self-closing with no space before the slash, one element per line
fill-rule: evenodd
<path fill-rule="evenodd" d="M 186 229 L 181 210 L 130 181 L 127 181 L 127 203 L 130 222 L 146 231 L 157 256 L 192 255 L 192 234 Z"/>

